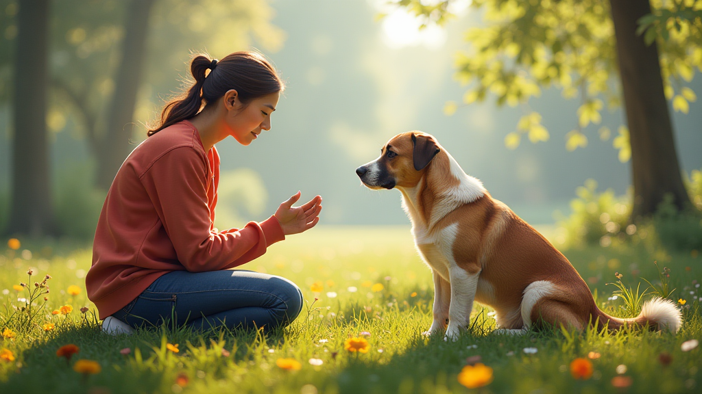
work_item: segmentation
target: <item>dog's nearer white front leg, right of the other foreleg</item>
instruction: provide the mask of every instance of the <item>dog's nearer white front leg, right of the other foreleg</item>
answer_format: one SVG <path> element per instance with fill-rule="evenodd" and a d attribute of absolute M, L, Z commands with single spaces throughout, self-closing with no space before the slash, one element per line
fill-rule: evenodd
<path fill-rule="evenodd" d="M 469 273 L 456 265 L 449 268 L 451 306 L 449 306 L 449 328 L 446 330 L 446 338 L 452 341 L 456 341 L 461 331 L 468 327 L 479 275 L 479 272 Z"/>

